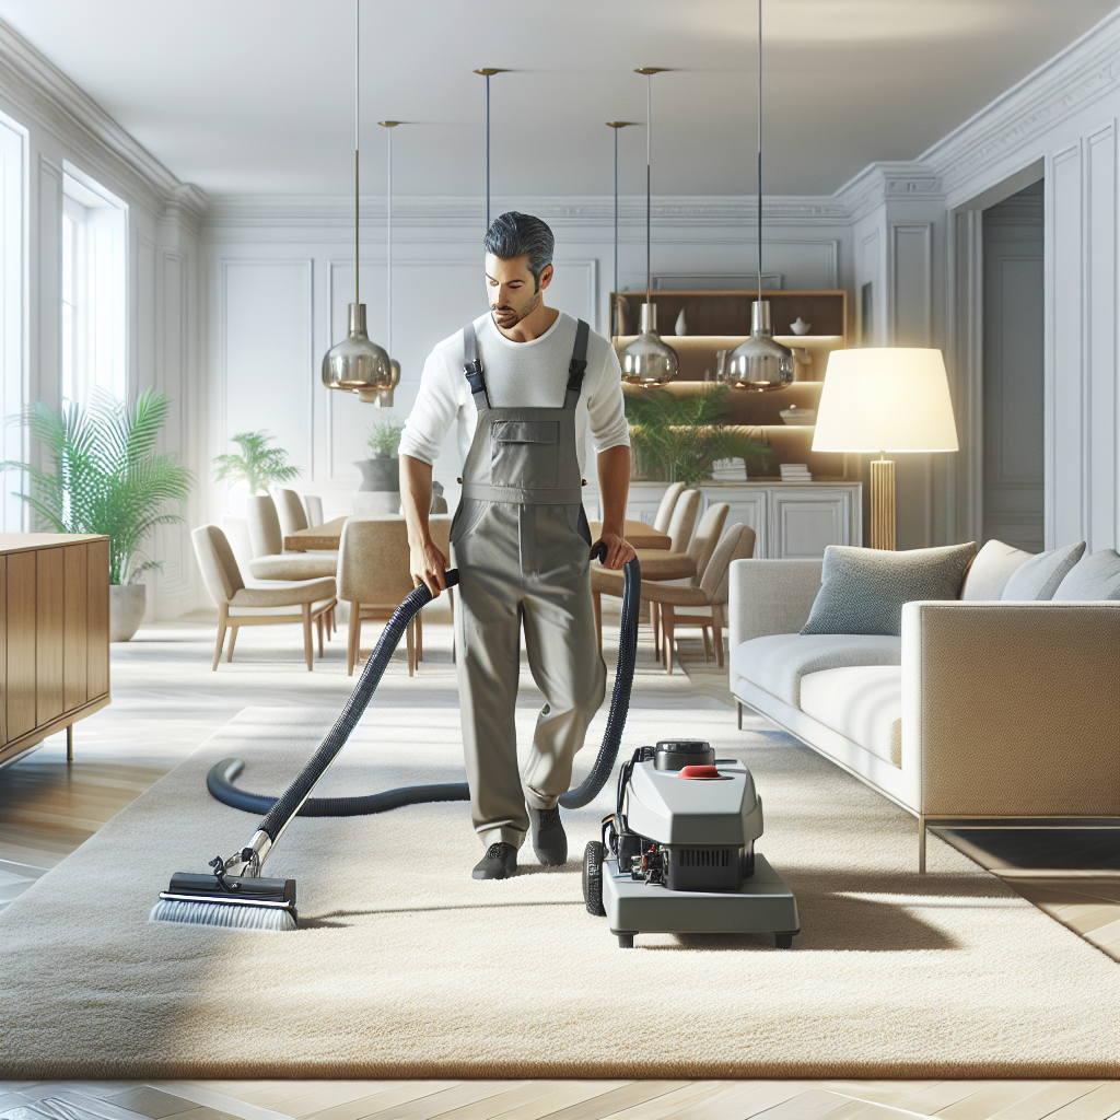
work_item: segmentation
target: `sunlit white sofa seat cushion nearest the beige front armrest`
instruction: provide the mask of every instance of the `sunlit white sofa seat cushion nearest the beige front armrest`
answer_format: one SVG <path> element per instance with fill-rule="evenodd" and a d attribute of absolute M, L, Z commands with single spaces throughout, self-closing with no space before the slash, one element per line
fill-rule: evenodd
<path fill-rule="evenodd" d="M 801 710 L 893 766 L 903 765 L 903 671 L 852 665 L 806 673 Z"/>

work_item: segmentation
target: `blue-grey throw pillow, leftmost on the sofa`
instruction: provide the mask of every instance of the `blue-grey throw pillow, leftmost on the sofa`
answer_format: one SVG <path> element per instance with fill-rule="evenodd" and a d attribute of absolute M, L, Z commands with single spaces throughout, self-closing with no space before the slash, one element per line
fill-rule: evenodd
<path fill-rule="evenodd" d="M 955 599 L 977 547 L 887 552 L 830 544 L 802 634 L 902 634 L 903 604 Z"/>

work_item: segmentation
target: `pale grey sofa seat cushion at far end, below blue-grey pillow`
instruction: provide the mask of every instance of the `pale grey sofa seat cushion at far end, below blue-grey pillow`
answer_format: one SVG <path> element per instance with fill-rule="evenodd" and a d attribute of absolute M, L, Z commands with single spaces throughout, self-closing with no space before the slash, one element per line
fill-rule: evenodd
<path fill-rule="evenodd" d="M 731 653 L 731 670 L 794 708 L 806 673 L 844 665 L 900 665 L 902 638 L 881 634 L 767 634 Z"/>

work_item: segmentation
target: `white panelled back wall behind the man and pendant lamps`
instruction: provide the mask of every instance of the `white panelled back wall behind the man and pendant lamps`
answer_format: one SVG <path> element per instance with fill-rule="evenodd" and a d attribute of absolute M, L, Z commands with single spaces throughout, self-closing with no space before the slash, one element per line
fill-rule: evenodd
<path fill-rule="evenodd" d="M 538 214 L 557 235 L 556 279 L 549 301 L 607 329 L 614 269 L 609 198 L 495 199 L 496 213 Z M 786 207 L 788 208 L 788 207 Z M 754 206 L 736 199 L 660 199 L 655 211 L 654 272 L 752 271 Z M 304 472 L 298 488 L 324 495 L 328 515 L 349 512 L 375 419 L 403 420 L 416 399 L 432 347 L 486 310 L 482 271 L 482 208 L 475 199 L 393 204 L 393 347 L 401 385 L 391 413 L 348 393 L 325 389 L 323 354 L 344 337 L 354 299 L 351 211 L 335 199 L 218 199 L 205 230 L 211 279 L 209 455 L 244 430 L 268 429 Z M 764 269 L 787 288 L 849 283 L 849 231 L 834 222 L 768 230 Z M 625 204 L 619 282 L 645 283 L 644 212 Z M 847 273 L 844 272 L 847 270 Z M 385 345 L 384 205 L 363 207 L 362 301 L 370 335 Z M 436 478 L 457 494 L 461 464 L 449 439 Z M 236 512 L 237 495 L 209 488 L 209 516 Z"/>

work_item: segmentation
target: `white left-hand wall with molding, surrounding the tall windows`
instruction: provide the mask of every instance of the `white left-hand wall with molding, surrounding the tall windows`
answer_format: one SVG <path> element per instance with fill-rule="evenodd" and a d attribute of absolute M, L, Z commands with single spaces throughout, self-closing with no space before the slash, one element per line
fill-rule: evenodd
<path fill-rule="evenodd" d="M 128 382 L 172 402 L 162 450 L 197 469 L 204 451 L 204 329 L 198 228 L 205 197 L 184 186 L 34 47 L 0 24 L 0 111 L 27 130 L 24 148 L 27 268 L 24 400 L 57 408 L 60 366 L 60 230 L 64 165 L 95 179 L 128 207 Z M 202 452 L 202 454 L 200 454 Z M 8 482 L 13 479 L 8 476 Z M 197 493 L 197 492 L 196 492 Z M 197 600 L 188 528 L 159 531 L 162 572 L 148 576 L 148 616 L 175 618 Z M 30 525 L 29 525 L 30 528 Z"/>

